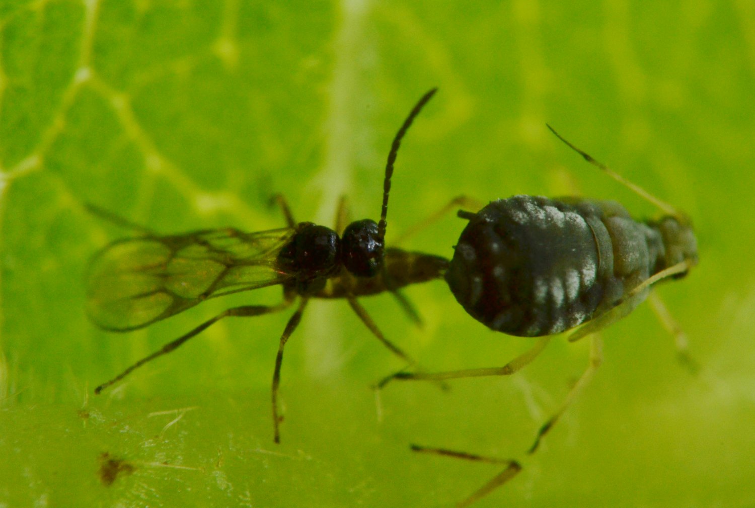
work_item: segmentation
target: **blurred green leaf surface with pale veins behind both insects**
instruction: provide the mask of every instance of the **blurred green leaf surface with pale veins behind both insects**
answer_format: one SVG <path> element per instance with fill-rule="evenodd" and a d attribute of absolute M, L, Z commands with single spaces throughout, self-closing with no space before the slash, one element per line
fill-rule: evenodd
<path fill-rule="evenodd" d="M 497 466 L 408 443 L 523 460 L 476 506 L 753 506 L 755 4 L 672 2 L 0 2 L 0 506 L 452 506 Z M 701 263 L 659 288 L 703 365 L 674 359 L 649 306 L 604 334 L 593 384 L 525 457 L 587 362 L 554 341 L 510 379 L 371 383 L 402 365 L 344 302 L 310 304 L 286 350 L 285 423 L 269 385 L 290 312 L 220 322 L 102 396 L 92 389 L 231 304 L 131 334 L 85 317 L 91 254 L 123 231 L 331 225 L 337 199 L 377 217 L 399 153 L 388 240 L 460 193 L 652 206 L 547 133 L 550 122 L 687 211 Z M 451 255 L 446 217 L 406 248 Z M 433 369 L 504 365 L 532 340 L 487 331 L 443 282 L 363 303 Z M 378 408 L 381 408 L 378 411 Z M 135 470 L 106 486 L 100 454 Z"/>

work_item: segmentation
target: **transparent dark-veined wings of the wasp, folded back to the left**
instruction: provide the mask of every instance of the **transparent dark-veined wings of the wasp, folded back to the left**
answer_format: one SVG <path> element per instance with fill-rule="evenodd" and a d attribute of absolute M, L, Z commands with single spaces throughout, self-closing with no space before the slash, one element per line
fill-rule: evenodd
<path fill-rule="evenodd" d="M 207 229 L 112 242 L 89 266 L 89 317 L 106 330 L 134 330 L 208 298 L 282 284 L 291 274 L 276 256 L 294 232 Z"/>

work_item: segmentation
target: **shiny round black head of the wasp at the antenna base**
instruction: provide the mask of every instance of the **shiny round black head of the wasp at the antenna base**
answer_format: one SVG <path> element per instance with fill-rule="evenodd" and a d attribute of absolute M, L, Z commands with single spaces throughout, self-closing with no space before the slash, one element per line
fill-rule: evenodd
<path fill-rule="evenodd" d="M 373 277 L 383 266 L 385 242 L 371 219 L 350 223 L 341 236 L 341 260 L 357 277 Z"/>

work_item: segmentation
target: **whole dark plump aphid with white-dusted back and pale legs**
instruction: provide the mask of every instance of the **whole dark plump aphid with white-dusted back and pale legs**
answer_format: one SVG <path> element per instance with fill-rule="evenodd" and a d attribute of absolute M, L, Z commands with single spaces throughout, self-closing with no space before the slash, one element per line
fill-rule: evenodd
<path fill-rule="evenodd" d="M 658 206 L 664 216 L 638 221 L 617 202 L 542 196 L 513 196 L 490 202 L 476 213 L 459 211 L 467 226 L 445 272 L 456 300 L 492 330 L 541 338 L 503 367 L 404 371 L 381 382 L 385 386 L 393 379 L 439 381 L 514 374 L 541 353 L 553 334 L 581 326 L 569 340 L 592 334 L 590 362 L 560 408 L 538 430 L 528 454 L 537 450 L 600 365 L 602 343 L 595 332 L 627 316 L 649 296 L 655 282 L 683 277 L 698 263 L 697 241 L 688 217 L 550 130 L 587 162 Z M 652 303 L 661 322 L 676 335 L 680 359 L 692 365 L 683 332 L 661 300 L 655 297 Z M 476 502 L 522 469 L 516 460 L 418 445 L 412 449 L 506 464 L 498 476 L 458 503 L 460 507 Z"/>

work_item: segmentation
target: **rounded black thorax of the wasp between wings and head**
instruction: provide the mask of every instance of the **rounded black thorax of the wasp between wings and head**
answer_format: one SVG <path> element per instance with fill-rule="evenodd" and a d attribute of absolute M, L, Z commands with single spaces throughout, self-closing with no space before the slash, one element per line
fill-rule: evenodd
<path fill-rule="evenodd" d="M 333 229 L 310 222 L 299 223 L 291 242 L 278 254 L 282 269 L 297 273 L 298 279 L 331 276 L 338 269 L 341 242 Z"/>

